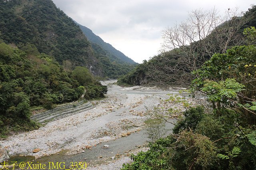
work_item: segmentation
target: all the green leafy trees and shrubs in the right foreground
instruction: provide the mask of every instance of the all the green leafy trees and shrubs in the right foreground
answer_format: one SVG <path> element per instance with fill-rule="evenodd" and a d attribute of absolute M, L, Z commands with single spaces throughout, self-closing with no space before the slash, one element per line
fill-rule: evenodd
<path fill-rule="evenodd" d="M 256 29 L 245 44 L 216 53 L 193 71 L 193 95 L 208 105 L 186 108 L 167 138 L 132 155 L 124 170 L 256 168 Z"/>

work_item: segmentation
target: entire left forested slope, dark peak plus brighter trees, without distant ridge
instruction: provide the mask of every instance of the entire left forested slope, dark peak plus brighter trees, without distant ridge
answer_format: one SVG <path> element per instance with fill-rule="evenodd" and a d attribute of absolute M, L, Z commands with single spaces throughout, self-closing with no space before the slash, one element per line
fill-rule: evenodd
<path fill-rule="evenodd" d="M 0 138 L 38 127 L 32 109 L 104 97 L 92 73 L 104 76 L 92 45 L 51 0 L 0 0 Z"/>

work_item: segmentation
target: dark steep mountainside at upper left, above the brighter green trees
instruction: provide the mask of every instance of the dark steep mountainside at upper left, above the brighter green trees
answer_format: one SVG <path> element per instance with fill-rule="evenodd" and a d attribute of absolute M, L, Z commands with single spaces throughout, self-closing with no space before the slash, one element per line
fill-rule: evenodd
<path fill-rule="evenodd" d="M 86 66 L 102 74 L 90 42 L 80 28 L 51 0 L 0 0 L 0 39 L 22 49 L 34 44 L 40 53 Z"/>

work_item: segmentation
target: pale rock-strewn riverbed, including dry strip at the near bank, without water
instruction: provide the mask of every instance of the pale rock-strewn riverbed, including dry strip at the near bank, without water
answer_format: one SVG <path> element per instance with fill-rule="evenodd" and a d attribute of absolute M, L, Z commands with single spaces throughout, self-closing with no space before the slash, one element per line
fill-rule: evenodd
<path fill-rule="evenodd" d="M 102 142 L 140 132 L 144 127 L 147 111 L 156 106 L 163 109 L 177 107 L 164 101 L 169 97 L 166 94 L 179 94 L 176 90 L 139 86 L 123 88 L 113 83 L 115 81 L 102 82 L 108 85 L 108 94 L 101 101 L 92 101 L 95 105 L 93 109 L 52 121 L 38 130 L 10 136 L 1 142 L 2 145 L 9 156 L 27 155 L 40 158 L 62 150 L 67 150 L 67 155 L 78 154 L 85 150 L 93 150 Z M 189 98 L 188 101 L 195 103 Z M 170 119 L 176 116 L 170 115 Z M 39 151 L 33 153 L 35 149 Z M 120 155 L 118 159 L 109 159 L 101 161 L 100 165 L 92 165 L 96 166 L 96 169 L 118 169 L 124 162 L 130 161 L 130 153 L 146 149 L 138 147 L 128 151 L 127 155 Z"/>

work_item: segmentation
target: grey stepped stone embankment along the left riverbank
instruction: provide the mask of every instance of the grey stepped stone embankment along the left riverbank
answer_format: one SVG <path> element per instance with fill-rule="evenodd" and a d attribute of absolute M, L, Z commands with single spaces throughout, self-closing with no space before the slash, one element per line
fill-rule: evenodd
<path fill-rule="evenodd" d="M 70 115 L 86 111 L 88 109 L 92 109 L 93 107 L 94 106 L 92 105 L 92 103 L 83 100 L 78 103 L 72 103 L 69 105 L 56 107 L 49 111 L 38 113 L 36 115 L 33 115 L 31 119 L 39 123 L 46 123 L 68 117 Z"/>

